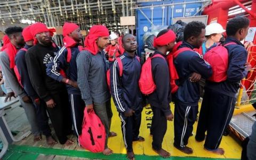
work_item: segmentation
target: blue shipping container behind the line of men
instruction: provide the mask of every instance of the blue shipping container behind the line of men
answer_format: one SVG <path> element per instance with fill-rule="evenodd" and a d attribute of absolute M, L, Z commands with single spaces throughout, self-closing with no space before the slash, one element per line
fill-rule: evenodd
<path fill-rule="evenodd" d="M 139 3 L 141 8 L 136 9 L 138 55 L 144 52 L 143 35 L 150 31 L 153 24 L 170 26 L 173 24 L 173 18 L 201 15 L 203 2 L 206 1 L 173 0 Z"/>

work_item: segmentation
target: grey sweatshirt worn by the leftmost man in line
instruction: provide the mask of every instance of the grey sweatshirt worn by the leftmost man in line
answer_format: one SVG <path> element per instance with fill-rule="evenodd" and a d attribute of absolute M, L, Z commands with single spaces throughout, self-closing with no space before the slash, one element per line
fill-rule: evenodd
<path fill-rule="evenodd" d="M 0 54 L 0 66 L 2 68 L 2 72 L 5 76 L 5 82 L 7 83 L 5 86 L 9 86 L 11 89 L 6 88 L 7 92 L 14 92 L 15 95 L 20 96 L 21 98 L 27 96 L 25 90 L 20 86 L 17 77 L 14 73 L 14 70 L 10 68 L 10 60 L 9 56 L 5 51 Z"/>

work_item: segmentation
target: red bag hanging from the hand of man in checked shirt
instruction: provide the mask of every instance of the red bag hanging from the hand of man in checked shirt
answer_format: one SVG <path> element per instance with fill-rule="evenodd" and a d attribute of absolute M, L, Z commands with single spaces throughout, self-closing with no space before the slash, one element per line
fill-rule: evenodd
<path fill-rule="evenodd" d="M 93 153 L 102 152 L 105 149 L 106 132 L 99 117 L 87 107 L 84 109 L 84 121 L 82 134 L 79 135 L 79 144 Z"/>

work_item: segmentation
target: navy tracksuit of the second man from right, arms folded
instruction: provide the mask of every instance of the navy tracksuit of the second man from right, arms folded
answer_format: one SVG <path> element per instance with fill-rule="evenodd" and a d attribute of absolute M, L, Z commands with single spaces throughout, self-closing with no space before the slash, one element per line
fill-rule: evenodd
<path fill-rule="evenodd" d="M 194 47 L 183 41 L 178 48 Z M 199 73 L 207 79 L 212 75 L 209 63 L 205 62 L 197 52 L 185 51 L 174 59 L 174 65 L 179 75 L 181 85 L 175 93 L 174 108 L 174 146 L 185 147 L 193 131 L 193 124 L 198 113 L 199 82 L 190 82 L 193 72 Z"/>

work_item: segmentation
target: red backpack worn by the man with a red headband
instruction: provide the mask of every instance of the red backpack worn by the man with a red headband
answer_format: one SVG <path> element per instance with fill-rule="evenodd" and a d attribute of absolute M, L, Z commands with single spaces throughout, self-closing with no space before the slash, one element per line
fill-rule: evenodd
<path fill-rule="evenodd" d="M 139 87 L 142 94 L 149 95 L 156 89 L 156 85 L 153 79 L 151 60 L 155 57 L 160 57 L 165 60 L 161 54 L 155 54 L 152 57 L 148 57 L 146 62 L 142 65 L 141 74 L 139 79 Z"/>

